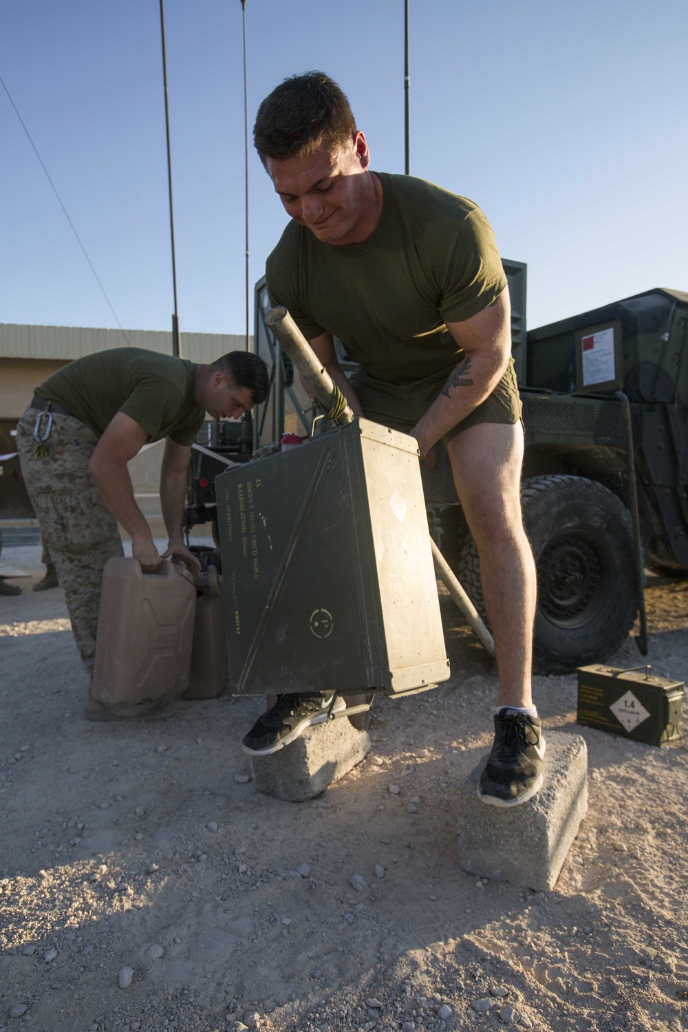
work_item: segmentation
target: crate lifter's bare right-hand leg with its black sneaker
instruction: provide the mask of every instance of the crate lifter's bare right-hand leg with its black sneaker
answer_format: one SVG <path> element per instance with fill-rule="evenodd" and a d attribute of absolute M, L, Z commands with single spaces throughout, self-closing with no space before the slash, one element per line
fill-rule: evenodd
<path fill-rule="evenodd" d="M 478 546 L 499 676 L 495 743 L 479 795 L 484 802 L 515 806 L 539 788 L 545 754 L 531 696 L 536 578 L 521 516 L 523 429 L 520 423 L 481 423 L 457 434 L 448 451 Z"/>

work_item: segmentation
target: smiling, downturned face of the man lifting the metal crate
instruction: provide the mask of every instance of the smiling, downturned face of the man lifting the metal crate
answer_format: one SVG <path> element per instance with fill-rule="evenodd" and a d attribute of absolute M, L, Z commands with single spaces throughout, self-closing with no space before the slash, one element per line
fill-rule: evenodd
<path fill-rule="evenodd" d="M 362 132 L 351 143 L 276 161 L 267 171 L 288 215 L 324 244 L 357 244 L 369 235 L 370 163 Z M 374 188 L 373 188 L 374 197 Z M 361 233 L 365 235 L 361 235 Z"/>

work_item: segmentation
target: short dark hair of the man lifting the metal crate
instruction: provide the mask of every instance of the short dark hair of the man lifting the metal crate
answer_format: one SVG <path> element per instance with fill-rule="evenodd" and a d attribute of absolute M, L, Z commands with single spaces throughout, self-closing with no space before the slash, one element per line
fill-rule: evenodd
<path fill-rule="evenodd" d="M 258 108 L 254 143 L 265 164 L 310 154 L 321 147 L 341 147 L 356 132 L 349 101 L 322 71 L 290 75 Z"/>

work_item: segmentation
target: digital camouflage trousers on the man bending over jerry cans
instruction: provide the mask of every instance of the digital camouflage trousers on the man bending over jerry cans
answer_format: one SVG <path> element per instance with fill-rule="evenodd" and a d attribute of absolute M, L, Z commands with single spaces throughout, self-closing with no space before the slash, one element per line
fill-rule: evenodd
<path fill-rule="evenodd" d="M 103 567 L 123 554 L 122 541 L 89 471 L 98 438 L 72 416 L 53 413 L 50 434 L 37 442 L 39 415 L 45 431 L 45 414 L 27 409 L 17 427 L 17 450 L 43 545 L 65 589 L 76 646 L 92 675 Z"/>

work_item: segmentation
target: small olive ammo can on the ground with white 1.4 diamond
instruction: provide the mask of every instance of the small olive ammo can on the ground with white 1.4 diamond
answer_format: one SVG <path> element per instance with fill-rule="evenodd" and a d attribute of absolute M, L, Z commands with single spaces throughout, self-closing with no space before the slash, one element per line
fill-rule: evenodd
<path fill-rule="evenodd" d="M 684 682 L 650 669 L 579 667 L 578 722 L 648 745 L 681 738 Z"/>

